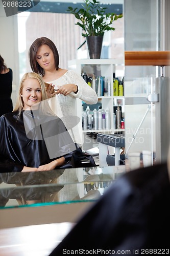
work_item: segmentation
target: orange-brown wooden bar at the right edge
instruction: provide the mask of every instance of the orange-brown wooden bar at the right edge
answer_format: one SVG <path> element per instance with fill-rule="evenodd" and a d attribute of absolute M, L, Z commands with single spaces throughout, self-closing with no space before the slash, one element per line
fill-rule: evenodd
<path fill-rule="evenodd" d="M 125 66 L 170 66 L 170 51 L 125 51 Z"/>

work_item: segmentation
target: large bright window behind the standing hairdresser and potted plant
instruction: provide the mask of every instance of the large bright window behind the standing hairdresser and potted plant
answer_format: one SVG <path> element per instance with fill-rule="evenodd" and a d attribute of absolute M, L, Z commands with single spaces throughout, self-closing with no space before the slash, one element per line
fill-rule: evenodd
<path fill-rule="evenodd" d="M 105 4 L 109 12 L 123 12 L 123 4 L 111 4 L 112 1 L 108 0 L 109 2 L 110 4 Z M 81 35 L 81 28 L 75 25 L 75 16 L 66 12 L 70 5 L 71 3 L 41 1 L 30 9 L 32 11 L 18 14 L 20 75 L 31 71 L 28 51 L 32 42 L 41 36 L 55 42 L 61 68 L 67 69 L 70 59 L 88 58 L 86 44 L 78 50 L 85 38 Z M 77 5 L 80 6 L 80 3 Z M 101 58 L 124 58 L 124 18 L 116 20 L 114 27 L 115 31 L 104 35 Z"/>

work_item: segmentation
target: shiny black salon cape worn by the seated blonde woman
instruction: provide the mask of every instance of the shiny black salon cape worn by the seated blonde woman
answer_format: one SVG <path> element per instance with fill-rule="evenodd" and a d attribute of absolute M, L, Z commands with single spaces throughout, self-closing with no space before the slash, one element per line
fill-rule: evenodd
<path fill-rule="evenodd" d="M 64 156 L 66 161 L 71 158 L 72 148 L 69 149 L 69 145 L 74 146 L 74 143 L 62 120 L 53 116 L 39 116 L 39 112 L 37 114 L 34 111 L 34 113 L 22 111 L 18 120 L 18 112 L 8 113 L 0 118 L 1 173 L 21 172 L 24 165 L 39 167 L 61 156 Z M 39 125 L 39 120 L 42 125 Z M 58 135 L 54 141 L 57 146 L 54 158 L 49 157 L 43 135 L 40 136 L 39 131 L 41 132 L 42 129 L 45 131 L 44 137 Z"/>

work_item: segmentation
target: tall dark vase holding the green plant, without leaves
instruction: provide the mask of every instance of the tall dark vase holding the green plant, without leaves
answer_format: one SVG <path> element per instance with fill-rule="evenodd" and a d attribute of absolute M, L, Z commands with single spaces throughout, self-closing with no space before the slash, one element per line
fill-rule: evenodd
<path fill-rule="evenodd" d="M 90 59 L 100 59 L 103 36 L 87 36 L 86 41 Z"/>

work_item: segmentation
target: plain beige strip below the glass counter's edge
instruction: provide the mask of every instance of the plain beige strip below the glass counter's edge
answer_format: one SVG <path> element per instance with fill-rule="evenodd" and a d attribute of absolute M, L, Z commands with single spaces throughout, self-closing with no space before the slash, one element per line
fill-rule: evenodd
<path fill-rule="evenodd" d="M 95 201 L 82 201 L 38 207 L 4 208 L 0 210 L 0 229 L 48 223 L 76 223 L 94 203 Z"/>

